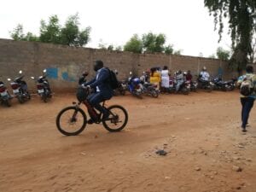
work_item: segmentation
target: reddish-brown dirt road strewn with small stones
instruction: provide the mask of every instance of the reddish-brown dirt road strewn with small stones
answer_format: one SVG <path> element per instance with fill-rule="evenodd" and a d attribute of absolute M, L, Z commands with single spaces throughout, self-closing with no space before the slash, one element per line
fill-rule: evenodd
<path fill-rule="evenodd" d="M 117 96 L 108 105 L 128 110 L 124 131 L 90 125 L 64 137 L 55 117 L 73 101 L 0 108 L 1 192 L 256 191 L 256 108 L 242 134 L 236 92 Z"/>

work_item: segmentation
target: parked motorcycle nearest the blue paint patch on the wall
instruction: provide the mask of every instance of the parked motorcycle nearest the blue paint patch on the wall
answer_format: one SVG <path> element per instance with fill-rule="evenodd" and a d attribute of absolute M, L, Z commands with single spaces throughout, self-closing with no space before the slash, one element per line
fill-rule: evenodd
<path fill-rule="evenodd" d="M 39 76 L 38 79 L 36 79 L 37 82 L 37 88 L 38 88 L 38 95 L 41 97 L 41 99 L 44 102 L 48 102 L 48 100 L 52 97 L 51 90 L 49 88 L 49 82 L 46 79 L 46 69 L 44 69 L 44 74 L 42 76 Z M 31 79 L 35 79 L 34 77 L 31 77 Z"/>

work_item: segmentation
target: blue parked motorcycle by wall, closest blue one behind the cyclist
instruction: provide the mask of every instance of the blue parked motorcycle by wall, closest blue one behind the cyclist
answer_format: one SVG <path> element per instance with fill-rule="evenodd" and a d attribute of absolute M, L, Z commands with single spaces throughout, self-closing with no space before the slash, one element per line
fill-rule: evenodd
<path fill-rule="evenodd" d="M 134 77 L 131 72 L 130 78 L 128 79 L 128 89 L 132 96 L 137 96 L 140 99 L 143 98 L 143 84 L 141 83 L 141 80 Z"/>

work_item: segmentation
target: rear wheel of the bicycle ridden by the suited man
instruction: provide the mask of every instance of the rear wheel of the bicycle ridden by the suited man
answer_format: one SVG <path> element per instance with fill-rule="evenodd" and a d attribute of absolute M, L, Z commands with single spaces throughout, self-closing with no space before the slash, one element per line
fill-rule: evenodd
<path fill-rule="evenodd" d="M 110 132 L 121 131 L 128 122 L 128 113 L 122 106 L 113 105 L 108 108 L 110 115 L 108 119 L 103 120 L 104 128 Z"/>

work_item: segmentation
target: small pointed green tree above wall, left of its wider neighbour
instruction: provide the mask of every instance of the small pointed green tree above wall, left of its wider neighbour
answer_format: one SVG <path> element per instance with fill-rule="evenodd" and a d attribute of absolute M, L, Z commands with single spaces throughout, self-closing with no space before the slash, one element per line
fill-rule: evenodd
<path fill-rule="evenodd" d="M 143 52 L 143 41 L 138 37 L 137 34 L 134 34 L 125 44 L 124 50 L 140 54 Z"/>

